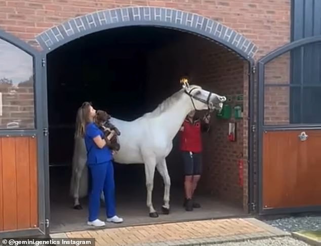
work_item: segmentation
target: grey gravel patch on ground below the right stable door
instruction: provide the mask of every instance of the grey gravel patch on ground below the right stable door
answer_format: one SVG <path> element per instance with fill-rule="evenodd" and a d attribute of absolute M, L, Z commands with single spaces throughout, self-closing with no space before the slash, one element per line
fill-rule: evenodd
<path fill-rule="evenodd" d="M 288 217 L 262 221 L 287 232 L 321 229 L 321 216 Z"/>

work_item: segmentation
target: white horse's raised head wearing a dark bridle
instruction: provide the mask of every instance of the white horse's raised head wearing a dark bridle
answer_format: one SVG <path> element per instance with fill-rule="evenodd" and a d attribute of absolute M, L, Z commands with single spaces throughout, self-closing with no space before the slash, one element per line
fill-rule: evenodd
<path fill-rule="evenodd" d="M 200 86 L 190 85 L 183 88 L 184 92 L 190 97 L 195 110 L 208 109 L 213 111 L 214 109 L 217 109 L 218 111 L 221 111 L 223 102 L 226 101 L 226 97 L 206 91 Z"/>

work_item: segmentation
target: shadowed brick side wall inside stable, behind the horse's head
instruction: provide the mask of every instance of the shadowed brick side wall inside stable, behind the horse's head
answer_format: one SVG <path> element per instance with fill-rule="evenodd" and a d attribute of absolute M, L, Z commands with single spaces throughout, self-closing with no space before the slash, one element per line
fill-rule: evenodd
<path fill-rule="evenodd" d="M 193 47 L 193 49 L 190 49 Z M 189 36 L 152 53 L 149 56 L 149 74 L 151 81 L 150 100 L 160 102 L 180 88 L 179 78 L 188 72 L 192 84 L 220 95 L 235 96 L 244 93 L 244 61 L 235 54 L 208 40 Z M 158 92 L 155 95 L 155 90 Z M 235 102 L 231 106 L 243 105 Z M 154 104 L 156 106 L 156 103 Z M 203 113 L 199 113 L 203 116 Z M 236 141 L 227 140 L 228 122 L 236 121 Z M 243 119 L 217 119 L 212 114 L 210 133 L 203 134 L 204 171 L 198 193 L 213 194 L 243 206 L 243 187 L 239 187 L 237 158 L 247 152 L 247 133 L 244 132 Z M 245 135 L 245 136 L 244 136 Z M 247 154 L 246 156 L 247 157 Z M 167 159 L 173 185 L 183 184 L 183 169 L 178 138 L 174 140 L 174 149 Z M 246 162 L 245 162 L 246 164 Z M 247 170 L 247 166 L 245 165 Z M 245 177 L 247 183 L 247 176 Z M 246 186 L 247 188 L 247 186 Z M 247 197 L 247 191 L 245 192 Z M 247 202 L 247 200 L 246 200 Z"/>

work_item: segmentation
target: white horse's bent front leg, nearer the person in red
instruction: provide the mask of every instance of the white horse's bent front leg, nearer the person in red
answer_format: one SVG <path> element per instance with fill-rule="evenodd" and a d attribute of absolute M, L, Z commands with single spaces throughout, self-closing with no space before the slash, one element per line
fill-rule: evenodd
<path fill-rule="evenodd" d="M 163 177 L 164 181 L 164 205 L 162 206 L 163 214 L 170 213 L 170 188 L 171 188 L 171 178 L 168 174 L 166 159 L 164 158 L 162 161 L 157 163 L 156 165 L 157 171 Z"/>

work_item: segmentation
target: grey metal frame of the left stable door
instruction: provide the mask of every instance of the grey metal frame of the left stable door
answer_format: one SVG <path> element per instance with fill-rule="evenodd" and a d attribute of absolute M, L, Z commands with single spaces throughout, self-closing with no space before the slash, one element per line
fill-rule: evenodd
<path fill-rule="evenodd" d="M 36 49 L 29 46 L 14 35 L 0 30 L 0 38 L 6 42 L 14 45 L 20 50 L 26 52 L 33 58 L 33 74 L 34 74 L 34 120 L 35 127 L 30 130 L 0 130 L 1 137 L 14 137 L 14 136 L 35 136 L 37 138 L 37 179 L 38 179 L 38 227 L 22 230 L 0 231 L 1 237 L 17 237 L 17 236 L 32 236 L 32 235 L 45 235 L 47 233 L 46 228 L 46 204 L 45 197 L 45 167 L 44 167 L 44 143 L 46 142 L 43 134 L 43 69 L 41 65 L 41 54 Z"/>

